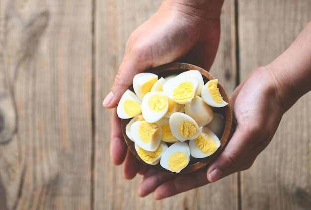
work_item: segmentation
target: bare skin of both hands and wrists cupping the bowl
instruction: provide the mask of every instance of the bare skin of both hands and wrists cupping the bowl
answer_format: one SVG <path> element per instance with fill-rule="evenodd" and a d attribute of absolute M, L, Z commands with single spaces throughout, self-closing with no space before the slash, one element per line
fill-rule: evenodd
<path fill-rule="evenodd" d="M 128 78 L 150 67 L 182 61 L 209 70 L 219 44 L 219 17 L 223 3 L 219 2 L 163 1 L 154 16 L 131 35 L 112 92 L 103 105 L 106 108 L 116 107 L 123 92 L 131 85 Z M 149 32 L 146 34 L 145 31 Z M 198 55 L 204 57 L 197 58 Z M 154 193 L 156 200 L 246 170 L 272 140 L 283 114 L 311 90 L 310 80 L 311 22 L 283 54 L 271 64 L 253 70 L 236 87 L 230 98 L 236 121 L 233 137 L 208 168 L 185 175 L 147 169 L 127 150 L 115 112 L 112 117 L 111 159 L 116 165 L 123 163 L 126 179 L 142 174 L 138 194 L 144 197 Z"/>

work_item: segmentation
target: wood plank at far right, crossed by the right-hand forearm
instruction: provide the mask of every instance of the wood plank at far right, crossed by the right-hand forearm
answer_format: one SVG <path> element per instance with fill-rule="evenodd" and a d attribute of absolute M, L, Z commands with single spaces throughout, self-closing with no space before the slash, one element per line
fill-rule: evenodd
<path fill-rule="evenodd" d="M 239 0 L 240 76 L 280 55 L 311 20 L 310 0 Z M 283 117 L 269 146 L 241 176 L 242 210 L 311 207 L 311 94 Z"/>

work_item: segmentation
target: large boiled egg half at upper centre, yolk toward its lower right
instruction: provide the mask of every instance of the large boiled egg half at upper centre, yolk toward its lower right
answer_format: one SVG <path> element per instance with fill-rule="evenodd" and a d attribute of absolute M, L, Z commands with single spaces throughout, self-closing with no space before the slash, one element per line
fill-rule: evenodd
<path fill-rule="evenodd" d="M 163 84 L 163 92 L 176 103 L 187 104 L 196 95 L 198 86 L 199 82 L 195 78 L 176 76 Z"/>

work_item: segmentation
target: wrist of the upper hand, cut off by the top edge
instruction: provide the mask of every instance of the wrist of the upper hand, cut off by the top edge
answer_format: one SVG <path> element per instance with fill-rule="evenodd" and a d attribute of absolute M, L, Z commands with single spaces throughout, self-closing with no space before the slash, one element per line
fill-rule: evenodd
<path fill-rule="evenodd" d="M 163 4 L 185 14 L 219 19 L 224 0 L 163 0 Z"/>

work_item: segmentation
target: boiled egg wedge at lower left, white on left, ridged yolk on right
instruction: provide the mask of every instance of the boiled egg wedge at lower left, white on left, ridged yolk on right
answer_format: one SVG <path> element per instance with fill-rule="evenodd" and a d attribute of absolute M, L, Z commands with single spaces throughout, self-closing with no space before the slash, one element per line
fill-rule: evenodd
<path fill-rule="evenodd" d="M 162 130 L 156 123 L 136 121 L 130 128 L 135 143 L 147 151 L 155 151 L 160 144 Z"/>

